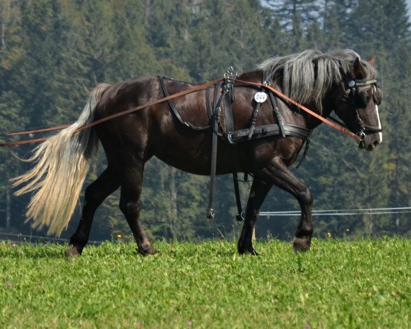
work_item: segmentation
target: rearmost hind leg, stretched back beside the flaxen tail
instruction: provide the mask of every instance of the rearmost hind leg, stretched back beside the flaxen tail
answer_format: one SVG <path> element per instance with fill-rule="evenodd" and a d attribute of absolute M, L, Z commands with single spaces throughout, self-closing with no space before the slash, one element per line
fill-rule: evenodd
<path fill-rule="evenodd" d="M 111 193 L 116 191 L 120 186 L 119 175 L 112 171 L 110 167 L 105 169 L 103 173 L 92 182 L 87 188 L 84 196 L 84 206 L 82 210 L 82 218 L 75 234 L 71 236 L 70 243 L 73 245 L 66 250 L 66 257 L 82 254 L 83 248 L 88 242 L 92 219 L 97 208 Z"/>

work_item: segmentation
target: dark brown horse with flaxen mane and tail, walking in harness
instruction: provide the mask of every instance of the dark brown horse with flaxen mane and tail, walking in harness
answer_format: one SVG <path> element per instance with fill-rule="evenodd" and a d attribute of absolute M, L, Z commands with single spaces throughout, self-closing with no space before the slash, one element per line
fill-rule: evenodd
<path fill-rule="evenodd" d="M 82 216 L 66 257 L 82 254 L 95 211 L 119 187 L 119 208 L 138 252 L 156 253 L 140 221 L 143 172 L 153 156 L 197 175 L 210 175 L 214 159 L 216 175 L 240 172 L 253 177 L 239 254 L 257 255 L 252 234 L 260 207 L 271 186 L 282 188 L 301 208 L 293 249 L 308 250 L 313 197 L 290 166 L 320 119 L 332 112 L 359 136 L 360 149 L 372 151 L 382 143 L 378 114 L 382 90 L 375 58 L 362 60 L 350 49 L 307 50 L 273 57 L 253 71 L 225 77 L 225 83 L 211 88 L 151 76 L 96 86 L 79 119 L 36 147 L 29 158 L 36 162 L 34 167 L 14 179 L 14 186 L 23 185 L 16 195 L 32 192 L 27 220 L 32 219 L 34 228 L 48 226 L 48 234 L 61 234 L 100 141 L 108 164 L 86 187 Z M 179 93 L 182 96 L 171 99 Z M 301 107 L 310 108 L 317 117 Z M 127 115 L 121 115 L 124 112 Z M 89 127 L 92 123 L 99 124 Z"/>

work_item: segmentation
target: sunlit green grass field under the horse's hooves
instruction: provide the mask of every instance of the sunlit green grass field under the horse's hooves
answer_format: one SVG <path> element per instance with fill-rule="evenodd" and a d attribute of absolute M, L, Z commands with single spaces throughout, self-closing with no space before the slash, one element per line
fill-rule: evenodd
<path fill-rule="evenodd" d="M 411 328 L 411 241 L 0 242 L 0 328 Z"/>

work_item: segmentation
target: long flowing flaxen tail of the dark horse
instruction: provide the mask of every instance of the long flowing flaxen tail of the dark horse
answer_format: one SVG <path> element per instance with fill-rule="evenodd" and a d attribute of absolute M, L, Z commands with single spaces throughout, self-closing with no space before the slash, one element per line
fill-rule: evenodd
<path fill-rule="evenodd" d="M 84 106 L 79 119 L 34 149 L 27 161 L 35 166 L 12 180 L 13 186 L 24 184 L 16 195 L 32 192 L 27 206 L 27 221 L 34 228 L 47 226 L 47 234 L 60 236 L 73 215 L 82 191 L 90 162 L 98 148 L 98 138 L 92 128 L 75 132 L 91 123 L 97 104 L 109 84 L 100 84 Z"/>

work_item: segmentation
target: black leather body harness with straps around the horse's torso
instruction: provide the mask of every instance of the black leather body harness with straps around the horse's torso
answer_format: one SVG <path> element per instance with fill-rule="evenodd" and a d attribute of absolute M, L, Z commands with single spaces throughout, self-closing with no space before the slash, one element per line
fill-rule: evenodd
<path fill-rule="evenodd" d="M 262 78 L 262 85 L 258 88 L 258 93 L 256 93 L 254 97 L 255 106 L 253 108 L 253 112 L 251 114 L 251 123 L 249 127 L 246 127 L 241 130 L 235 130 L 234 127 L 234 117 L 232 111 L 232 102 L 234 101 L 234 72 L 232 71 L 232 67 L 229 68 L 229 71 L 225 73 L 225 80 L 222 82 L 217 83 L 214 86 L 214 99 L 211 100 L 210 94 L 212 86 L 209 86 L 206 89 L 206 108 L 209 117 L 209 125 L 205 127 L 197 127 L 184 121 L 182 117 L 177 112 L 177 109 L 174 106 L 174 103 L 171 99 L 168 99 L 169 106 L 172 112 L 175 114 L 175 118 L 194 130 L 212 130 L 212 151 L 211 151 L 211 166 L 210 166 L 210 195 L 209 195 L 209 202 L 208 202 L 208 209 L 206 212 L 206 217 L 208 219 L 214 219 L 215 210 L 214 210 L 214 195 L 215 195 L 215 182 L 216 182 L 216 161 L 217 161 L 217 142 L 218 138 L 222 137 L 225 138 L 225 141 L 230 145 L 234 145 L 236 143 L 240 143 L 242 141 L 251 141 L 257 138 L 266 138 L 269 136 L 281 136 L 285 138 L 286 136 L 293 136 L 302 138 L 306 144 L 306 147 L 303 152 L 303 156 L 299 160 L 299 164 L 297 164 L 298 168 L 301 163 L 303 162 L 304 158 L 306 158 L 306 154 L 308 152 L 308 147 L 310 145 L 310 134 L 311 130 L 308 130 L 306 127 L 300 127 L 297 125 L 289 125 L 284 123 L 282 116 L 279 112 L 277 107 L 277 103 L 275 102 L 275 97 L 273 93 L 269 91 L 268 95 L 264 92 L 266 86 L 271 86 L 271 81 L 269 80 L 269 73 L 264 71 L 263 78 Z M 159 77 L 160 84 L 162 86 L 162 90 L 165 97 L 169 96 L 169 93 L 166 88 L 166 84 L 164 83 L 165 77 Z M 243 86 L 242 86 L 243 87 Z M 238 87 L 237 87 L 238 88 Z M 253 87 L 249 87 L 253 88 Z M 258 113 L 260 110 L 261 104 L 269 99 L 271 103 L 271 108 L 273 109 L 273 116 L 275 118 L 276 123 L 271 125 L 262 125 L 256 127 L 256 121 L 258 119 Z M 222 110 L 223 107 L 223 110 Z M 224 113 L 224 121 L 225 127 L 221 125 L 221 112 Z M 245 218 L 245 212 L 242 210 L 241 200 L 240 200 L 240 189 L 238 186 L 238 173 L 234 172 L 233 175 L 233 182 L 234 182 L 234 191 L 236 195 L 236 204 L 238 213 L 236 214 L 236 220 L 240 223 Z M 247 173 L 245 173 L 245 181 L 247 181 Z"/>

